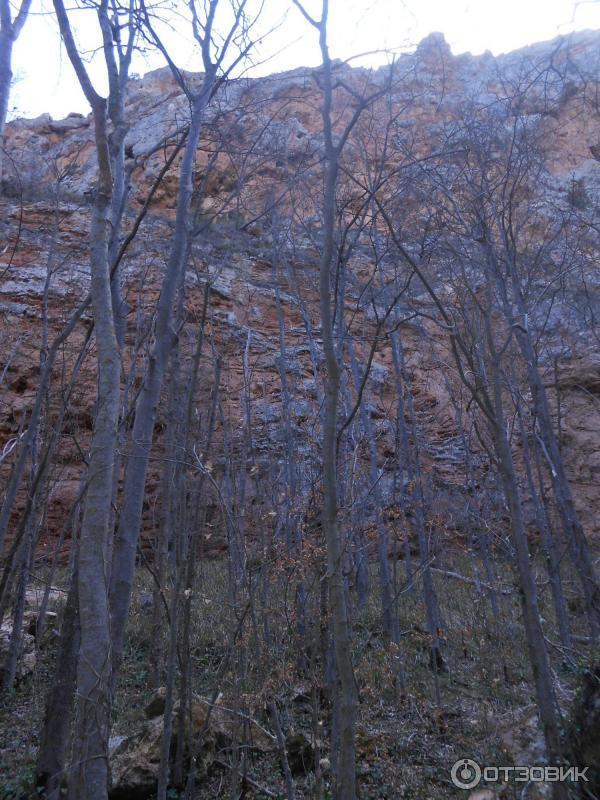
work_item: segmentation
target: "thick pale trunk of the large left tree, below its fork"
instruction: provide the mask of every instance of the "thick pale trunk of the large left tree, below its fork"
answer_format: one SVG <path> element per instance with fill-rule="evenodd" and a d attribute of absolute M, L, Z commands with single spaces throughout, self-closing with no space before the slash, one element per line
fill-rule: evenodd
<path fill-rule="evenodd" d="M 96 112 L 96 125 L 105 125 Z M 101 135 L 104 132 L 101 132 Z M 86 800 L 107 796 L 111 641 L 108 609 L 109 526 L 119 418 L 120 358 L 108 267 L 110 183 L 98 189 L 92 217 L 92 307 L 98 398 L 79 555 L 81 646 L 72 787 Z"/>

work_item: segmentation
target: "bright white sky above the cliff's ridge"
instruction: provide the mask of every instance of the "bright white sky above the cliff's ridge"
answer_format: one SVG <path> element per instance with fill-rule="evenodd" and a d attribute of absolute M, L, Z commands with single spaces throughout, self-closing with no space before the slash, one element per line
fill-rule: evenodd
<path fill-rule="evenodd" d="M 272 13 L 280 9 L 274 23 L 287 3 L 270 2 Z M 307 0 L 307 6 L 316 14 L 320 3 Z M 60 118 L 70 111 L 89 110 L 60 46 L 51 8 L 50 0 L 34 0 L 31 18 L 15 46 L 12 116 L 33 117 L 48 111 Z M 330 9 L 330 49 L 337 58 L 383 48 L 410 50 L 432 31 L 442 31 L 455 54 L 491 50 L 497 55 L 573 30 L 600 29 L 600 0 L 330 0 Z M 93 12 L 79 11 L 71 18 L 80 43 L 91 45 L 96 29 Z M 185 26 L 173 35 L 170 48 L 178 66 L 200 71 Z M 266 48 L 275 55 L 254 74 L 319 63 L 315 31 L 293 8 Z M 371 56 L 362 63 L 381 60 Z M 159 55 L 139 56 L 133 71 L 143 74 L 163 63 Z M 102 90 L 100 58 L 92 61 L 91 72 Z"/>

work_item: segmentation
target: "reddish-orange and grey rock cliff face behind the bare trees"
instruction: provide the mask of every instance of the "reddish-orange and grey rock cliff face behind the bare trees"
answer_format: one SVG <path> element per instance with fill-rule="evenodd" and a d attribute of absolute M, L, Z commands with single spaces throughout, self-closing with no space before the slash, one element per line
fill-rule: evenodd
<path fill-rule="evenodd" d="M 599 44 L 600 34 L 584 33 L 499 58 L 489 54 L 455 57 L 442 36 L 432 35 L 414 54 L 402 56 L 391 74 L 383 68 L 369 72 L 337 65 L 338 128 L 354 112 L 357 97 L 380 93 L 365 110 L 345 151 L 340 199 L 344 213 L 361 213 L 361 193 L 348 177 L 351 173 L 362 180 L 378 159 L 383 158 L 390 168 L 401 168 L 407 164 L 409 150 L 414 161 L 436 146 L 443 148 L 452 124 L 467 119 L 475 105 L 491 105 L 524 86 L 527 92 L 520 112 L 539 120 L 544 131 L 553 181 L 549 191 L 557 198 L 568 195 L 575 206 L 579 203 L 593 211 L 600 202 L 600 115 L 594 101 L 600 77 Z M 308 483 L 315 480 L 318 470 L 319 386 L 306 335 L 308 320 L 318 367 L 316 264 L 323 141 L 318 77 L 318 71 L 299 69 L 228 83 L 212 103 L 196 164 L 196 235 L 186 277 L 181 352 L 187 363 L 209 282 L 212 352 L 207 348 L 203 356 L 198 414 L 204 413 L 208 403 L 218 354 L 223 365 L 219 447 L 228 434 L 235 457 L 240 457 L 247 387 L 252 419 L 247 497 L 257 515 L 264 490 L 261 479 L 273 478 L 284 469 L 286 425 L 291 426 L 296 457 L 309 475 Z M 165 159 L 183 136 L 187 101 L 170 72 L 162 69 L 132 81 L 126 116 L 131 188 L 125 231 L 133 225 Z M 384 129 L 395 137 L 395 146 L 393 152 L 382 155 Z M 95 173 L 91 118 L 72 114 L 58 121 L 48 115 L 16 120 L 7 128 L 6 148 L 8 163 L 0 196 L 3 479 L 27 425 L 40 359 L 87 292 L 89 193 Z M 144 337 L 168 253 L 177 164 L 176 158 L 156 189 L 123 262 L 129 309 L 124 386 L 129 380 L 130 391 L 139 385 L 146 355 Z M 407 217 L 411 221 L 405 224 L 420 224 L 416 207 L 407 207 Z M 593 242 L 586 246 L 592 258 Z M 368 358 L 374 331 L 376 302 L 361 301 L 373 269 L 369 251 L 358 247 L 349 265 L 347 306 L 362 334 L 354 336 L 359 371 Z M 600 533 L 600 358 L 594 309 L 600 298 L 600 279 L 596 272 L 594 282 L 593 270 L 588 278 L 586 296 L 591 301 L 586 310 L 581 312 L 568 298 L 557 301 L 541 352 L 578 508 L 588 535 L 596 536 Z M 420 302 L 427 312 L 424 296 L 417 293 L 413 301 Z M 84 315 L 63 348 L 53 376 L 49 414 L 40 434 L 42 440 L 48 436 L 61 398 L 68 394 L 43 523 L 47 531 L 43 540 L 51 546 L 63 533 L 68 536 L 69 511 L 81 490 L 93 420 L 91 355 L 84 359 L 74 386 L 69 385 L 88 328 L 89 319 Z M 465 441 L 451 401 L 453 389 L 443 369 L 448 360 L 447 341 L 443 331 L 427 318 L 407 321 L 403 339 L 406 370 L 423 431 L 424 463 L 431 485 L 437 487 L 436 509 L 446 527 L 460 531 L 464 529 L 461 503 L 453 498 L 465 488 Z M 289 421 L 284 419 L 281 401 L 282 340 L 291 387 Z M 350 362 L 346 381 L 349 398 L 354 391 Z M 392 353 L 382 341 L 374 356 L 366 409 L 378 442 L 380 482 L 390 505 L 395 491 L 390 468 L 395 447 L 390 422 L 395 414 L 394 397 Z M 148 485 L 149 532 L 156 525 L 160 432 L 168 412 L 162 413 L 157 426 L 157 461 Z M 476 469 L 483 474 L 484 459 L 477 461 L 476 446 L 474 457 L 479 465 Z M 220 459 L 222 452 L 215 454 L 214 461 L 220 463 Z"/>

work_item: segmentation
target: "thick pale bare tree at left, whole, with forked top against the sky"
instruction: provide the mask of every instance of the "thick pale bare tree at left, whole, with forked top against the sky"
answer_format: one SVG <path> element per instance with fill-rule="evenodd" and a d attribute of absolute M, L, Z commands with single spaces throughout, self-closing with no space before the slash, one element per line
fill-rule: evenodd
<path fill-rule="evenodd" d="M 91 303 L 96 332 L 98 394 L 88 465 L 88 484 L 79 549 L 78 601 L 80 647 L 77 664 L 75 747 L 70 775 L 71 791 L 90 800 L 107 797 L 108 733 L 110 725 L 111 638 L 108 604 L 110 579 L 110 525 L 115 480 L 115 450 L 120 409 L 121 359 L 115 309 L 111 294 L 109 248 L 111 206 L 114 199 L 115 148 L 108 130 L 108 106 L 122 108 L 131 46 L 114 58 L 114 37 L 108 0 L 97 7 L 103 53 L 109 79 L 109 103 L 95 90 L 75 44 L 62 0 L 54 3 L 61 36 L 94 119 L 97 185 L 94 189 L 90 230 Z M 113 123 L 120 122 L 113 114 Z M 116 125 L 117 138 L 122 135 Z M 118 162 L 118 152 L 116 148 Z M 117 173 L 118 173 L 117 168 Z M 121 198 L 118 198 L 120 202 Z M 114 219 L 114 214 L 113 214 Z"/>

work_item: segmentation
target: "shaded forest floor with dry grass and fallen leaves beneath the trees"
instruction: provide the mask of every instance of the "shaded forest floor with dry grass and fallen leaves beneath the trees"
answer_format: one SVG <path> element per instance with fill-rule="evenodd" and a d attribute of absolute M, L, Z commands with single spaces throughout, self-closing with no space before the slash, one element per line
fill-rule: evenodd
<path fill-rule="evenodd" d="M 531 763 L 540 748 L 541 736 L 535 715 L 534 693 L 527 659 L 527 647 L 520 620 L 519 595 L 511 570 L 502 576 L 500 619 L 497 621 L 486 594 L 456 576 L 473 578 L 472 562 L 457 553 L 446 559 L 444 572 L 435 572 L 435 586 L 444 628 L 444 671 L 437 675 L 441 705 L 435 702 L 435 678 L 431 668 L 429 638 L 425 633 L 425 613 L 419 588 L 404 591 L 399 598 L 401 647 L 386 642 L 381 626 L 378 594 L 373 586 L 371 600 L 357 611 L 354 629 L 355 673 L 360 693 L 357 760 L 361 800 L 376 798 L 414 798 L 440 800 L 469 796 L 455 788 L 450 770 L 460 758 L 471 758 L 480 765 Z M 400 565 L 400 569 L 403 566 Z M 298 673 L 297 644 L 289 635 L 290 604 L 293 598 L 282 589 L 272 595 L 269 649 L 258 643 L 260 632 L 250 623 L 235 651 L 228 653 L 232 622 L 224 613 L 227 597 L 227 569 L 223 562 L 203 565 L 197 592 L 202 614 L 193 622 L 193 690 L 210 697 L 223 693 L 231 706 L 245 712 L 272 730 L 266 712 L 266 699 L 275 698 L 284 731 L 300 734 L 301 740 L 314 742 L 313 732 L 320 722 L 330 725 L 327 704 L 318 711 L 311 703 L 310 675 Z M 568 659 L 557 642 L 547 582 L 538 570 L 540 603 L 550 643 L 560 702 L 568 712 L 580 671 L 592 661 L 584 645 Z M 372 576 L 376 581 L 375 572 Z M 144 708 L 154 691 L 149 684 L 149 656 L 152 612 L 148 607 L 151 583 L 140 570 L 129 627 L 129 639 L 119 691 L 114 708 L 114 735 L 129 735 L 144 720 Z M 575 584 L 567 581 L 569 595 Z M 274 599 L 273 599 L 274 597 Z M 277 608 L 275 608 L 277 606 Z M 287 622 L 285 620 L 287 619 Z M 285 624 L 284 624 L 285 623 Z M 262 626 L 261 620 L 260 625 Z M 584 638 L 587 631 L 581 617 L 574 616 L 574 633 Z M 253 640 L 253 636 L 258 638 Z M 35 671 L 0 704 L 0 798 L 25 800 L 39 795 L 33 788 L 34 760 L 43 720 L 44 699 L 55 657 L 55 647 L 46 645 L 40 652 Z M 231 661 L 216 685 L 223 659 Z M 397 676 L 403 665 L 405 688 Z M 315 685 L 315 682 L 312 682 Z M 312 696 L 315 696 L 314 693 Z M 320 742 L 318 757 L 323 761 L 323 798 L 328 793 L 329 735 Z M 232 797 L 232 774 L 225 756 L 213 763 L 199 780 L 202 798 Z M 284 782 L 276 752 L 250 751 L 245 761 L 244 797 L 284 798 Z M 296 797 L 314 796 L 314 775 L 295 770 Z M 512 800 L 522 797 L 518 784 L 490 787 L 497 796 Z M 483 785 L 479 788 L 483 788 Z M 264 790 L 264 791 L 262 791 Z M 522 791 L 522 789 L 520 790 Z M 170 798 L 180 795 L 171 790 Z M 183 795 L 181 795 L 183 796 Z M 236 795 L 237 796 L 237 795 Z M 490 795 L 492 796 L 492 795 Z M 534 794 L 528 794 L 533 797 Z"/>

